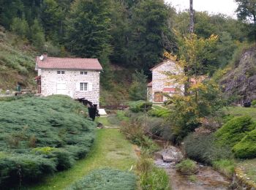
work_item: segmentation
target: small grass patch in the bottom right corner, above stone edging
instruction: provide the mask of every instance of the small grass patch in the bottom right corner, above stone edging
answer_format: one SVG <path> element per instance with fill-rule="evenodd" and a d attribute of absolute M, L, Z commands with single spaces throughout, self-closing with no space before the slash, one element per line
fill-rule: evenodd
<path fill-rule="evenodd" d="M 238 162 L 238 167 L 242 167 L 246 178 L 249 178 L 256 183 L 256 159 L 249 159 Z"/>

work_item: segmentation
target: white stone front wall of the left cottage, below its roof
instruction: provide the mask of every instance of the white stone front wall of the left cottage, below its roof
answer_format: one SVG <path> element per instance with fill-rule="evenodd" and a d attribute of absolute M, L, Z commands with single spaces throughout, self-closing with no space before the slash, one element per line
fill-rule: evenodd
<path fill-rule="evenodd" d="M 64 74 L 57 74 L 56 69 L 41 69 L 42 92 L 44 96 L 66 94 L 74 99 L 86 98 L 93 104 L 99 105 L 99 72 L 87 71 L 87 75 L 80 75 L 80 70 L 65 70 Z M 63 83 L 66 91 L 57 92 L 57 84 Z M 80 91 L 80 83 L 88 83 L 88 91 Z"/>

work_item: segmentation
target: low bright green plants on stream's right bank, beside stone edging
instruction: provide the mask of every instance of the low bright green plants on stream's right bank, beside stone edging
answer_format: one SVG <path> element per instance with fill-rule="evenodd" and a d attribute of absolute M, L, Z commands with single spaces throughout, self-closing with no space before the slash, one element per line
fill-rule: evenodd
<path fill-rule="evenodd" d="M 233 178 L 233 173 L 236 167 L 236 164 L 233 159 L 220 159 L 217 161 L 213 161 L 212 165 L 215 170 L 222 172 L 229 178 Z"/>

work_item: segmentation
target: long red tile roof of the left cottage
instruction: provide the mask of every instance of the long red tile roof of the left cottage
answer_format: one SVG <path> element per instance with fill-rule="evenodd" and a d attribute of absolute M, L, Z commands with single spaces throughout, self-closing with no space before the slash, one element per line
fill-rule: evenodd
<path fill-rule="evenodd" d="M 102 70 L 97 58 L 36 58 L 38 69 L 86 69 Z"/>

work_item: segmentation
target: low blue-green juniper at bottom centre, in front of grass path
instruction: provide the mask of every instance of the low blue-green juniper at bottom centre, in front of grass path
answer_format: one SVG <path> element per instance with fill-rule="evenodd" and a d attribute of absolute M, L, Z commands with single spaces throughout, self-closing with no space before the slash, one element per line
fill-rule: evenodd
<path fill-rule="evenodd" d="M 136 177 L 132 172 L 122 172 L 115 169 L 94 170 L 85 178 L 72 184 L 67 190 L 78 189 L 136 189 Z"/>

